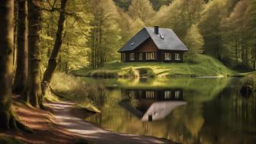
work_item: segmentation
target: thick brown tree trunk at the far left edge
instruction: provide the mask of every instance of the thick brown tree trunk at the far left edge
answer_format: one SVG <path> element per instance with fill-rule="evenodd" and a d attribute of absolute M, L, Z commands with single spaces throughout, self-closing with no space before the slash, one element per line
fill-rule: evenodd
<path fill-rule="evenodd" d="M 11 82 L 13 77 L 14 0 L 0 4 L 0 129 L 16 127 L 11 110 Z"/>

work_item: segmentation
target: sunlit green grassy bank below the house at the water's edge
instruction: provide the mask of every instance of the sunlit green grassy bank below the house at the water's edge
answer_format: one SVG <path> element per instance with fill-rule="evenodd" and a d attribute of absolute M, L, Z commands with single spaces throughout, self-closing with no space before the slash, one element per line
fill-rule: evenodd
<path fill-rule="evenodd" d="M 76 75 L 95 77 L 126 77 L 140 75 L 141 77 L 172 77 L 187 76 L 226 76 L 235 72 L 210 56 L 198 55 L 197 62 L 107 62 L 100 69 L 80 69 Z"/>

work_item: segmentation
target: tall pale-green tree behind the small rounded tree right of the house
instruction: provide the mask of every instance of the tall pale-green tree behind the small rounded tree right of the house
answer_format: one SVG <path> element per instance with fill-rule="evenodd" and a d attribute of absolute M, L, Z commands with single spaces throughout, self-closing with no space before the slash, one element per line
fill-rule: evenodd
<path fill-rule="evenodd" d="M 200 32 L 203 35 L 204 53 L 222 59 L 224 48 L 222 43 L 221 22 L 227 16 L 228 0 L 214 0 L 206 5 L 200 19 Z"/>

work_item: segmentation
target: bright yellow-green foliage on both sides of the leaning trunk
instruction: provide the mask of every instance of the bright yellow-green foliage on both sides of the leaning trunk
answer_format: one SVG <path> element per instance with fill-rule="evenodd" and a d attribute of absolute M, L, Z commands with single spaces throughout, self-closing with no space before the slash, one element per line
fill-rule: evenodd
<path fill-rule="evenodd" d="M 55 5 L 53 5 L 55 4 Z M 45 9 L 60 8 L 59 1 L 50 0 L 45 2 Z M 68 3 L 67 11 L 72 13 L 67 15 L 65 37 L 59 53 L 58 70 L 69 72 L 88 66 L 88 41 L 90 21 L 93 20 L 92 14 L 88 11 L 87 1 L 75 0 Z M 79 10 L 79 11 L 76 11 Z M 56 37 L 58 23 L 58 11 L 43 11 L 42 47 L 43 47 L 43 69 L 46 67 L 50 52 L 53 50 L 53 43 Z M 42 71 L 43 71 L 42 69 Z"/>

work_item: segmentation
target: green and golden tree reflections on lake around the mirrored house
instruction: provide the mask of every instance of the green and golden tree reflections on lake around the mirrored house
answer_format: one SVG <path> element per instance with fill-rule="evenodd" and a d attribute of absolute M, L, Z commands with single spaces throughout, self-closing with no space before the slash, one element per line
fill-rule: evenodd
<path fill-rule="evenodd" d="M 141 103 L 139 99 L 143 98 L 153 101 L 170 98 L 171 101 L 172 95 L 175 96 L 174 91 L 182 87 L 175 85 L 174 88 L 158 87 L 154 90 L 133 83 L 135 86 L 122 88 L 122 91 L 117 88 L 104 93 L 107 96 L 97 100 L 104 101 L 98 102 L 103 114 L 91 117 L 91 120 L 111 130 L 165 137 L 182 143 L 254 143 L 256 97 L 242 98 L 236 82 L 231 82 L 228 87 L 227 82 L 223 80 L 197 80 L 189 82 L 190 86 L 186 82 L 180 82 L 186 85 L 180 98 L 187 101 L 187 105 L 172 110 L 165 120 L 151 123 L 142 122 L 120 106 L 120 101 L 133 101 L 135 104 L 132 105 L 136 108 L 139 108 Z M 143 85 L 146 85 L 146 82 Z M 165 91 L 159 90 L 161 88 Z M 127 93 L 127 89 L 133 92 Z M 146 91 L 154 92 L 148 92 L 147 97 Z M 158 94 L 162 96 L 159 97 Z"/>

